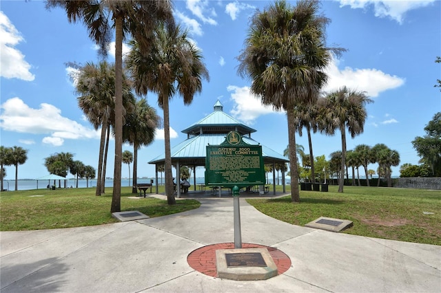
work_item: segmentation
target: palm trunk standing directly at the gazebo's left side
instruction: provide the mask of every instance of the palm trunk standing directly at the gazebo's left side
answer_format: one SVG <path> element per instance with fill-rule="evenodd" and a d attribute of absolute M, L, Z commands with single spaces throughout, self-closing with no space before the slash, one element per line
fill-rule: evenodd
<path fill-rule="evenodd" d="M 173 176 L 172 176 L 172 151 L 170 150 L 170 109 L 168 107 L 168 96 L 161 94 L 164 111 L 164 144 L 165 144 L 165 195 L 167 204 L 176 204 L 174 199 Z M 176 179 L 178 182 L 179 178 Z"/>

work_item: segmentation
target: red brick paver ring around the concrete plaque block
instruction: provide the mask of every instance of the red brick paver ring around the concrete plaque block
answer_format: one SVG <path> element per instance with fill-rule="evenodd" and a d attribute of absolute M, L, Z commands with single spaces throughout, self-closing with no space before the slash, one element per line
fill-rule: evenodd
<path fill-rule="evenodd" d="M 242 248 L 267 248 L 274 263 L 277 265 L 278 274 L 283 274 L 291 267 L 291 259 L 289 259 L 287 254 L 281 252 L 277 248 L 254 243 L 242 243 Z M 234 249 L 234 243 L 217 243 L 193 250 L 187 256 L 187 263 L 194 268 L 194 270 L 206 274 L 207 276 L 217 276 L 216 250 L 218 249 Z"/>

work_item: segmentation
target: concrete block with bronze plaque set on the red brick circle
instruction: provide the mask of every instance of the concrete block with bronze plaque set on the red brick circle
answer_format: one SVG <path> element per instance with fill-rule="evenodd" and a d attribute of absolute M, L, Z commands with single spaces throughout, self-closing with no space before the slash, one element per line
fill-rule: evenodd
<path fill-rule="evenodd" d="M 267 248 L 216 250 L 218 278 L 236 281 L 266 280 L 277 276 L 277 265 Z"/>

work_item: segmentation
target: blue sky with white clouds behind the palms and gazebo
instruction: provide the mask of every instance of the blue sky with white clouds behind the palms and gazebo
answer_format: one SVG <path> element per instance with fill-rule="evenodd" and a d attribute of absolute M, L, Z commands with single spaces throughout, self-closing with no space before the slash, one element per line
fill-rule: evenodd
<path fill-rule="evenodd" d="M 186 139 L 181 130 L 213 110 L 216 100 L 224 111 L 257 130 L 252 138 L 278 153 L 287 147 L 284 113 L 262 107 L 249 94 L 250 81 L 237 74 L 236 57 L 243 49 L 249 17 L 271 1 L 175 1 L 176 20 L 188 28 L 203 51 L 210 80 L 192 105 L 184 106 L 176 96 L 170 103 L 172 146 Z M 295 4 L 295 2 L 291 2 Z M 74 154 L 74 160 L 96 168 L 99 131 L 85 120 L 77 106 L 71 68 L 65 63 L 99 62 L 94 43 L 81 23 L 71 24 L 60 8 L 48 11 L 43 1 L 0 2 L 1 100 L 0 139 L 3 146 L 28 149 L 28 160 L 19 166 L 19 178 L 48 174 L 44 158 L 59 152 Z M 418 164 L 411 141 L 424 135 L 423 128 L 441 111 L 441 93 L 433 87 L 441 76 L 440 1 L 323 1 L 322 12 L 331 19 L 327 43 L 345 47 L 340 59 L 327 69 L 325 91 L 343 85 L 366 91 L 374 102 L 367 106 L 365 131 L 347 140 L 347 148 L 358 144 L 384 143 L 400 153 L 401 163 Z M 126 48 L 127 50 L 127 48 Z M 108 60 L 114 60 L 114 50 Z M 147 95 L 150 105 L 157 97 Z M 139 151 L 140 177 L 154 176 L 148 161 L 164 151 L 163 131 Z M 306 134 L 298 144 L 308 148 Z M 340 135 L 314 134 L 314 155 L 341 150 Z M 124 145 L 123 150 L 133 151 Z M 113 141 L 107 175 L 113 175 Z M 370 166 L 376 170 L 377 166 Z M 6 180 L 14 179 L 14 167 L 7 166 Z M 363 172 L 361 172 L 363 173 Z M 128 177 L 123 165 L 123 177 Z M 198 169 L 196 175 L 203 175 Z M 399 167 L 393 169 L 399 175 Z M 68 175 L 71 177 L 71 175 Z"/>

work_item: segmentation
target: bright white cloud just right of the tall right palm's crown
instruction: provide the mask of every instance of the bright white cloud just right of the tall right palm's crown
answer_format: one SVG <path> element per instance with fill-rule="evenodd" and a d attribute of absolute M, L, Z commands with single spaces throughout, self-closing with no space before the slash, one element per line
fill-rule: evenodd
<path fill-rule="evenodd" d="M 404 84 L 404 78 L 385 74 L 381 70 L 372 69 L 353 69 L 345 67 L 338 68 L 338 61 L 333 59 L 327 69 L 328 83 L 323 91 L 329 92 L 347 86 L 350 89 L 358 91 L 366 91 L 367 95 L 375 98 L 382 91 L 387 89 L 395 89 Z"/>

